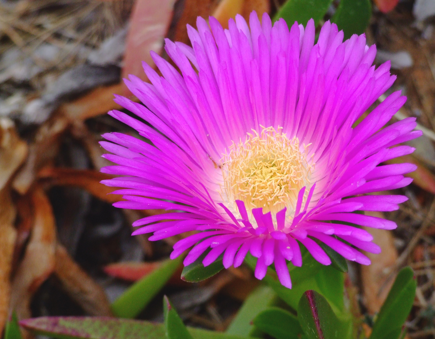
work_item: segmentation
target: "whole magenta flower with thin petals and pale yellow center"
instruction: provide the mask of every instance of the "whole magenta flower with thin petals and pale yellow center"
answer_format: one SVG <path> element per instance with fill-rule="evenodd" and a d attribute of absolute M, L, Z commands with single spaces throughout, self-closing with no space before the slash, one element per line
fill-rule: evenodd
<path fill-rule="evenodd" d="M 258 258 L 262 279 L 274 263 L 282 285 L 291 288 L 286 266 L 301 266 L 300 244 L 329 265 L 318 241 L 349 260 L 370 260 L 358 249 L 379 253 L 370 233 L 349 223 L 394 229 L 392 221 L 355 211 L 391 211 L 407 198 L 365 195 L 397 189 L 412 179 L 412 164 L 381 165 L 412 153 L 396 146 L 414 139 L 415 118 L 384 125 L 405 103 L 400 92 L 357 120 L 394 82 L 390 63 L 375 69 L 375 46 L 364 35 L 343 42 L 343 32 L 326 22 L 315 42 L 315 25 L 284 20 L 262 22 L 251 13 L 224 30 L 201 17 L 188 26 L 192 43 L 166 40 L 165 50 L 181 74 L 152 53 L 163 76 L 144 63 L 150 83 L 130 76 L 126 84 L 144 105 L 122 96 L 109 114 L 150 142 L 107 133 L 101 145 L 116 163 L 104 180 L 126 209 L 166 209 L 147 216 L 133 234 L 150 240 L 189 233 L 171 258 L 187 249 L 184 265 L 205 251 L 204 266 L 223 253 L 226 268 L 240 266 L 248 251 Z M 144 121 L 146 123 L 144 123 Z M 330 221 L 334 221 L 331 223 Z M 211 248 L 211 250 L 209 250 Z"/>

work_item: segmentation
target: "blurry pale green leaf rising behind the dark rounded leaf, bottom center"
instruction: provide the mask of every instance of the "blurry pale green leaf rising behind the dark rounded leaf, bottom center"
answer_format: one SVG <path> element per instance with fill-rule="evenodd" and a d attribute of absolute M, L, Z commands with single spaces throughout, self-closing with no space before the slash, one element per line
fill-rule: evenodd
<path fill-rule="evenodd" d="M 276 305 L 278 300 L 277 294 L 271 287 L 258 286 L 243 302 L 226 332 L 238 336 L 258 336 L 260 333 L 252 324 L 252 319 L 261 311 Z"/>

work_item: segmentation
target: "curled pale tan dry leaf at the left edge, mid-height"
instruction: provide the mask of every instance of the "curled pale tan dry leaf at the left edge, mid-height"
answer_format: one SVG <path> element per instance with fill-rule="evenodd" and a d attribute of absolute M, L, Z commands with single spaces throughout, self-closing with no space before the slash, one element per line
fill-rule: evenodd
<path fill-rule="evenodd" d="M 20 139 L 13 121 L 0 119 L 0 190 L 23 163 L 27 156 L 27 143 Z"/>

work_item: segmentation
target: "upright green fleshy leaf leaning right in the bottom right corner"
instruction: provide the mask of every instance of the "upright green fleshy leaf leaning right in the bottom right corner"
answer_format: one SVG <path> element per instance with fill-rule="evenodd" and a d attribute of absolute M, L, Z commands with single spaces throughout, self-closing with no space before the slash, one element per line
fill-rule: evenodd
<path fill-rule="evenodd" d="M 387 299 L 379 311 L 370 339 L 386 339 L 387 333 L 402 328 L 411 311 L 416 286 L 412 269 L 410 267 L 403 268 L 397 275 Z"/>

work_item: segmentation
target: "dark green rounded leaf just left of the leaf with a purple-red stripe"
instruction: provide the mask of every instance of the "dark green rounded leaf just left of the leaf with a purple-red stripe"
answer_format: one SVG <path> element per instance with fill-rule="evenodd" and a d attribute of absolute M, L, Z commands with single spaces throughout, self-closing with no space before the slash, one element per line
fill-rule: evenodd
<path fill-rule="evenodd" d="M 279 307 L 261 312 L 255 317 L 254 325 L 276 339 L 298 339 L 303 333 L 298 318 Z"/>

